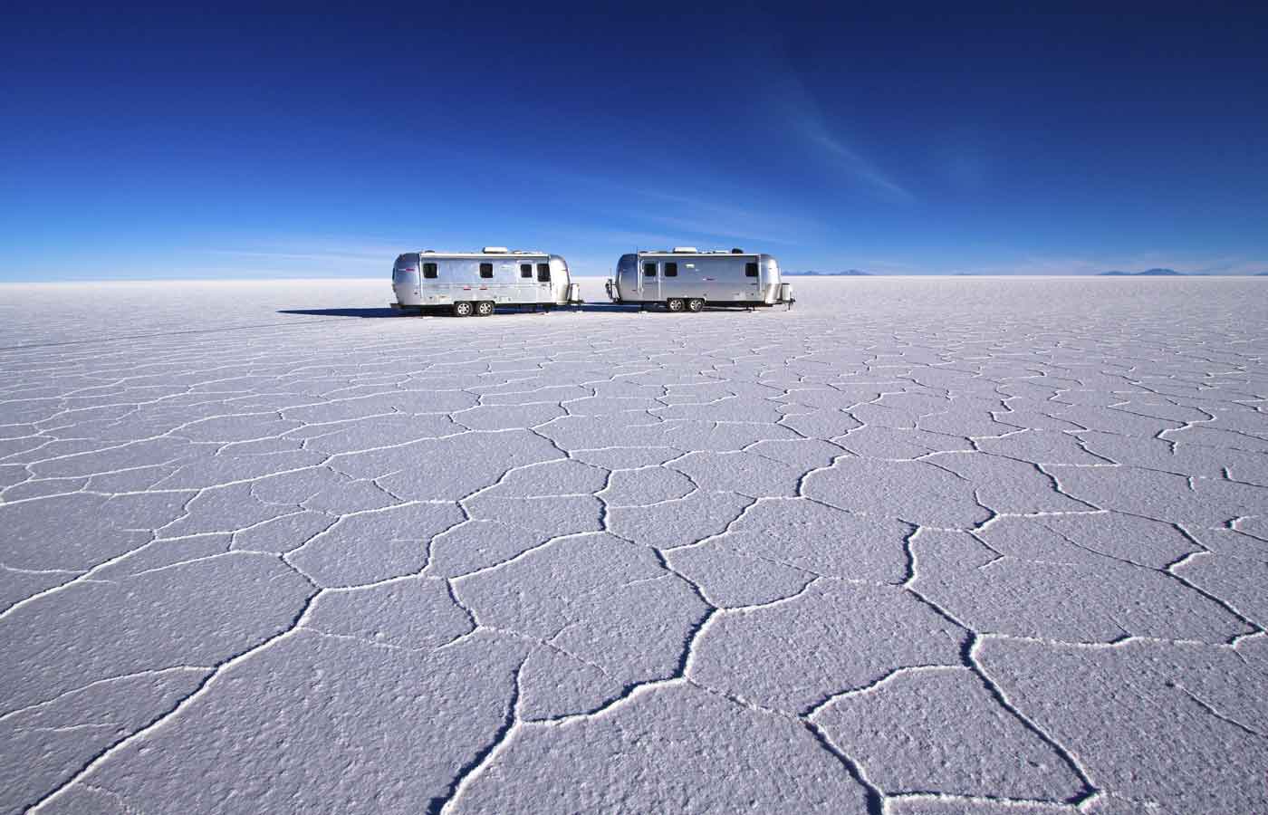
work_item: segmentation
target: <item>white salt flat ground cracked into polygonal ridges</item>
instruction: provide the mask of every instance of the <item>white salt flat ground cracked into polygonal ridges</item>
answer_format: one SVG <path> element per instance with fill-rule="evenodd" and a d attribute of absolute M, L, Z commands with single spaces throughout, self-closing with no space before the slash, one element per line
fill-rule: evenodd
<path fill-rule="evenodd" d="M 0 810 L 1268 811 L 1268 281 L 795 285 L 6 286 Z"/>

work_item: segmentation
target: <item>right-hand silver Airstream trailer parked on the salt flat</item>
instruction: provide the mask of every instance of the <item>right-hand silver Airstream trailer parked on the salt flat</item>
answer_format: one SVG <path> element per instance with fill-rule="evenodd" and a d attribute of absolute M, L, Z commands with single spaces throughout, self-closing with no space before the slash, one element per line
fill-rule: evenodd
<path fill-rule="evenodd" d="M 614 303 L 661 304 L 671 312 L 699 312 L 705 305 L 792 304 L 792 285 L 780 280 L 770 255 L 743 250 L 672 251 L 621 255 L 616 278 L 607 281 Z"/>

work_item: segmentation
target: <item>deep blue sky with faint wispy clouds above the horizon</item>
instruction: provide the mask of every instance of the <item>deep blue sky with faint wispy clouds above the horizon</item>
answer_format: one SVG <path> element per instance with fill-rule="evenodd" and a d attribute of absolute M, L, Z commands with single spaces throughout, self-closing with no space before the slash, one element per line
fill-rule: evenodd
<path fill-rule="evenodd" d="M 1263 11 L 843 5 L 8 9 L 0 279 L 1268 271 Z"/>

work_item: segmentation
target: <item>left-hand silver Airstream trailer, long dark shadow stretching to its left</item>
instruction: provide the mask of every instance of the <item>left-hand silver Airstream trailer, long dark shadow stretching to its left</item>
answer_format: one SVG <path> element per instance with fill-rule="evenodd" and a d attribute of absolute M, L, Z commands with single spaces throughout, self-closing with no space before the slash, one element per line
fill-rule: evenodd
<path fill-rule="evenodd" d="M 392 267 L 392 308 L 443 308 L 455 317 L 487 317 L 498 305 L 550 309 L 581 302 L 559 255 L 486 246 L 479 252 L 406 252 Z"/>

